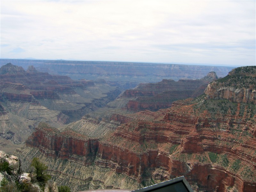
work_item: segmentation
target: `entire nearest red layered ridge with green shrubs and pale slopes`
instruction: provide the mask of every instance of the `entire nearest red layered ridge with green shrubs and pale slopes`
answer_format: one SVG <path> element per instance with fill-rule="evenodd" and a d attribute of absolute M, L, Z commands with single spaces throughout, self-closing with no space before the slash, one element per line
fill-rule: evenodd
<path fill-rule="evenodd" d="M 41 123 L 16 151 L 74 191 L 140 188 L 184 175 L 195 191 L 255 191 L 256 67 L 233 69 L 195 99 L 156 112 Z M 24 164 L 24 167 L 27 165 Z"/>

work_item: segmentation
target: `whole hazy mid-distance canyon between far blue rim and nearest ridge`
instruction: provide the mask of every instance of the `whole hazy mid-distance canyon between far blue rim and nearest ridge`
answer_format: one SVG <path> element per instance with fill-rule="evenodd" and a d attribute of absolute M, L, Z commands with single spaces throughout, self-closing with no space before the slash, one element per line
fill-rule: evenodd
<path fill-rule="evenodd" d="M 217 78 L 215 72 L 210 72 L 199 80 L 175 82 L 164 79 L 158 83 L 141 83 L 136 89 L 129 89 L 138 82 L 73 80 L 68 76 L 40 72 L 33 65 L 25 71 L 7 63 L 0 68 L 0 104 L 5 111 L 5 115 L 0 116 L 1 146 L 12 148 L 11 151 L 4 148 L 6 152 L 12 152 L 15 145 L 20 147 L 39 122 L 60 128 L 80 120 L 85 114 L 101 119 L 106 114 L 100 113 L 109 110 L 112 112 L 107 118 L 113 113 L 168 108 L 175 100 L 202 94 L 207 84 Z M 20 130 L 19 124 L 22 124 Z"/>

